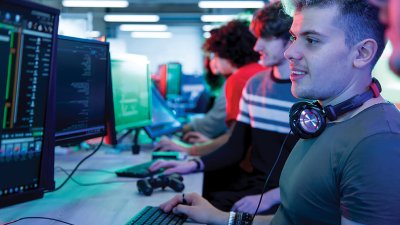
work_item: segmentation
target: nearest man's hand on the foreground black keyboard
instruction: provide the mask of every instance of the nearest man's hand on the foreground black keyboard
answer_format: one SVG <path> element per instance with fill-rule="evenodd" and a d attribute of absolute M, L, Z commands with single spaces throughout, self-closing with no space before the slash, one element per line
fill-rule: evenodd
<path fill-rule="evenodd" d="M 185 198 L 186 204 L 183 204 Z M 160 205 L 164 212 L 185 214 L 190 219 L 204 224 L 225 225 L 228 223 L 229 213 L 222 212 L 212 206 L 206 199 L 196 193 L 179 194 Z"/>

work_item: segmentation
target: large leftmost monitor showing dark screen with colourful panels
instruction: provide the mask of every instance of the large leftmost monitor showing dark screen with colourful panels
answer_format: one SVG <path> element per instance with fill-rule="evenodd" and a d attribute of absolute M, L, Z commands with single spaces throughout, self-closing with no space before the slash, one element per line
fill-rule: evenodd
<path fill-rule="evenodd" d="M 54 189 L 54 85 L 59 11 L 0 1 L 0 207 Z"/>

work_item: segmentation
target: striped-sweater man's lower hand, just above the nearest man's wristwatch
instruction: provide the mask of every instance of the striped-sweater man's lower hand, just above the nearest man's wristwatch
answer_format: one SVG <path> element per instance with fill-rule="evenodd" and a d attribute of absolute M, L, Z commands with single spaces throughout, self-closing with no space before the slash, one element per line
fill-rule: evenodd
<path fill-rule="evenodd" d="M 258 202 L 260 201 L 261 195 L 249 195 L 243 197 L 237 201 L 233 207 L 232 211 L 247 212 L 254 214 Z M 279 188 L 272 189 L 263 195 L 263 199 L 260 204 L 259 212 L 264 212 L 270 209 L 272 206 L 280 203 Z"/>

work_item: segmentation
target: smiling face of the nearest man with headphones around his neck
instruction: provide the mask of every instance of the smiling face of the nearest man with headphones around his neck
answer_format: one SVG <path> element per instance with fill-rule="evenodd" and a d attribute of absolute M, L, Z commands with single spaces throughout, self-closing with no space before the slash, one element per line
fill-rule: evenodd
<path fill-rule="evenodd" d="M 305 8 L 294 15 L 290 61 L 292 94 L 298 98 L 332 100 L 352 78 L 345 33 L 334 26 L 336 6 Z"/>

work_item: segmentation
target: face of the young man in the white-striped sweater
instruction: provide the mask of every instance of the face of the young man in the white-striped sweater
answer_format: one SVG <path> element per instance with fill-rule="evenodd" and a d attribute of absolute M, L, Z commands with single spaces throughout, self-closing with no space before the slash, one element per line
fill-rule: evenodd
<path fill-rule="evenodd" d="M 278 66 L 286 59 L 283 55 L 288 44 L 281 38 L 257 38 L 254 51 L 260 54 L 260 61 L 264 66 Z"/>

